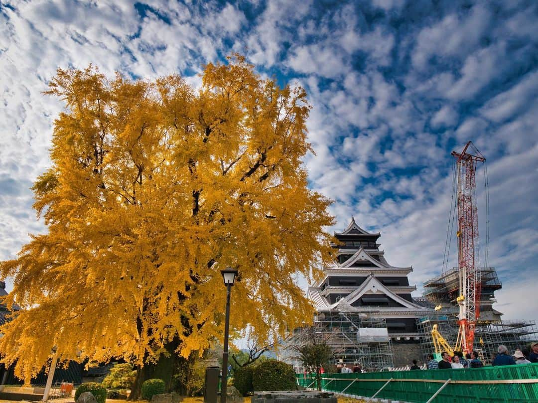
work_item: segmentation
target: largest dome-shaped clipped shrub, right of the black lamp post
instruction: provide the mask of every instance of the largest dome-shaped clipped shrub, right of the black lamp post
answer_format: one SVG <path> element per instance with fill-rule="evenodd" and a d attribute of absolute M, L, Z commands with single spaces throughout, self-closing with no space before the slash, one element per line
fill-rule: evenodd
<path fill-rule="evenodd" d="M 293 366 L 267 360 L 254 368 L 252 386 L 255 391 L 294 391 L 297 389 Z"/>

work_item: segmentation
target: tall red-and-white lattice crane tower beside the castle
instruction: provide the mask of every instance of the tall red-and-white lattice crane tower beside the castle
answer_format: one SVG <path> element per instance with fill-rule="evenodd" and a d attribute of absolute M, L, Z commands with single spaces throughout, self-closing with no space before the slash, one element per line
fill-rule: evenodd
<path fill-rule="evenodd" d="M 469 152 L 471 150 L 473 154 Z M 458 211 L 458 339 L 461 340 L 463 351 L 471 352 L 480 315 L 481 288 L 475 174 L 478 163 L 486 159 L 471 142 L 465 145 L 461 153 L 452 151 L 452 156 L 456 158 Z"/>

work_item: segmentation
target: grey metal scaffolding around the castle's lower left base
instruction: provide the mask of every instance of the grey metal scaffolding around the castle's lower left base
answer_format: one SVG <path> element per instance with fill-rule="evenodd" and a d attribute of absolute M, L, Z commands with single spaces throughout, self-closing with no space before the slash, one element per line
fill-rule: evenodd
<path fill-rule="evenodd" d="M 316 342 L 325 341 L 332 348 L 331 364 L 359 363 L 368 372 L 393 366 L 391 339 L 382 317 L 343 310 L 316 313 L 313 326 L 295 329 L 281 349 L 280 359 L 292 364 L 296 372 L 305 370 L 296 348 L 308 343 L 312 335 Z"/>

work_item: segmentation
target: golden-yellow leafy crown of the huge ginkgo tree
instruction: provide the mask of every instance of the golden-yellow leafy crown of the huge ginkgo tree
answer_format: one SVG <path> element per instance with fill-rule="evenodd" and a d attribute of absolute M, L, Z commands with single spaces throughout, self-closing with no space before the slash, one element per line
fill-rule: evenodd
<path fill-rule="evenodd" d="M 65 110 L 33 186 L 47 231 L 0 264 L 14 283 L 4 303 L 23 308 L 0 328 L 17 376 L 54 346 L 62 360 L 121 357 L 139 374 L 203 351 L 222 337 L 226 266 L 240 273 L 232 329 L 252 326 L 261 344 L 312 317 L 294 279 L 330 259 L 334 219 L 302 166 L 306 93 L 240 55 L 202 79 L 107 79 L 90 66 L 51 80 Z"/>

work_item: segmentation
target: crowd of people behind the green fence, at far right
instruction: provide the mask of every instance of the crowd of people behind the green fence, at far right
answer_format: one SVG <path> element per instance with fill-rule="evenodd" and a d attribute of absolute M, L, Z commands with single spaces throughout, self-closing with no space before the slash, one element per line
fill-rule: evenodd
<path fill-rule="evenodd" d="M 515 364 L 530 364 L 538 363 L 538 343 L 530 345 L 532 351 L 516 349 L 512 355 L 508 352 L 505 345 L 499 345 L 497 353 L 493 357 L 492 365 L 515 365 Z M 434 369 L 463 369 L 463 368 L 480 368 L 484 363 L 480 360 L 478 352 L 466 353 L 465 357 L 461 351 L 455 351 L 454 356 L 450 357 L 449 353 L 443 351 L 441 360 L 437 361 L 433 354 L 428 355 L 428 363 L 426 364 L 429 370 Z M 416 365 L 416 359 L 413 360 L 412 370 L 420 370 Z"/>

